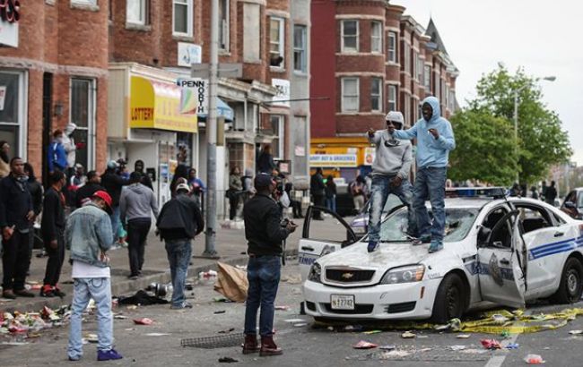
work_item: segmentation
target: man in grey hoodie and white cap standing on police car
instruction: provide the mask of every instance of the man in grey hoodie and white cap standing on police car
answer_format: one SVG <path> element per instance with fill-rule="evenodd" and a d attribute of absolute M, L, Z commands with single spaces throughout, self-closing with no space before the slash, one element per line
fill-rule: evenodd
<path fill-rule="evenodd" d="M 403 114 L 390 111 L 386 117 L 387 129 L 403 128 Z M 369 141 L 376 146 L 376 156 L 372 162 L 372 193 L 369 211 L 368 251 L 379 248 L 380 219 L 387 203 L 388 195 L 395 194 L 408 209 L 407 234 L 416 236 L 417 223 L 412 207 L 413 186 L 409 183 L 409 171 L 413 162 L 411 141 L 394 139 L 388 130 L 367 132 Z"/>

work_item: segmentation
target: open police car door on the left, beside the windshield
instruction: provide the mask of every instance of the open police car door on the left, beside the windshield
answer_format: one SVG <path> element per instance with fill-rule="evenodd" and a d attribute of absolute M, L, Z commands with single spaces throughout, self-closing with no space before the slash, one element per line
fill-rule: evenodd
<path fill-rule="evenodd" d="M 326 220 L 335 222 L 333 228 L 330 229 L 326 226 L 326 229 L 322 228 L 317 230 L 321 221 L 315 220 L 314 214 L 317 214 L 318 210 L 332 216 L 332 218 L 327 218 Z M 298 243 L 298 261 L 300 262 L 301 279 L 306 280 L 309 268 L 314 261 L 356 241 L 357 237 L 354 235 L 352 228 L 342 217 L 326 208 L 309 207 L 308 211 L 306 211 L 306 220 L 304 221 L 301 232 L 300 243 Z"/>

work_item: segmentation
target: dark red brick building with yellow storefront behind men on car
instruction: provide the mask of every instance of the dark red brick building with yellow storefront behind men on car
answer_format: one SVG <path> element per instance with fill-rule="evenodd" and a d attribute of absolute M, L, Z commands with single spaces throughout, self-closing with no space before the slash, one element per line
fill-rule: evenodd
<path fill-rule="evenodd" d="M 364 132 L 383 129 L 387 111 L 401 111 L 411 126 L 422 99 L 433 95 L 443 115 L 453 113 L 458 71 L 434 22 L 425 29 L 402 6 L 386 0 L 314 0 L 311 6 L 318 47 L 311 53 L 310 90 L 330 99 L 311 105 L 310 163 L 352 181 L 370 172 L 374 148 Z"/>

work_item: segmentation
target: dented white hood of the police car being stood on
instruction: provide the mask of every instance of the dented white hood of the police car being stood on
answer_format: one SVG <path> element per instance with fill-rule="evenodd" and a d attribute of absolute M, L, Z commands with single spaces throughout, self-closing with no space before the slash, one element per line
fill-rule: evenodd
<path fill-rule="evenodd" d="M 379 250 L 369 253 L 367 243 L 359 242 L 332 252 L 320 259 L 323 269 L 328 267 L 387 270 L 398 266 L 418 264 L 429 256 L 427 244 L 379 243 Z"/>

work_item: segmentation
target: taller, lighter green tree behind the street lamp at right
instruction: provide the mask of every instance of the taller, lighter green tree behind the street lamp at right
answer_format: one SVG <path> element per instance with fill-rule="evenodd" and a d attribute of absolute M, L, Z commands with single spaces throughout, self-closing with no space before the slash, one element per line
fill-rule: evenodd
<path fill-rule="evenodd" d="M 518 172 L 520 181 L 525 183 L 540 180 L 551 166 L 565 162 L 572 154 L 568 133 L 562 129 L 559 116 L 544 105 L 537 81 L 522 68 L 511 75 L 499 64 L 498 69 L 478 81 L 477 97 L 469 101 L 468 107 L 470 111 L 504 118 L 513 124 L 514 91 L 519 90 Z M 500 133 L 492 135 L 492 139 L 500 139 Z"/>

